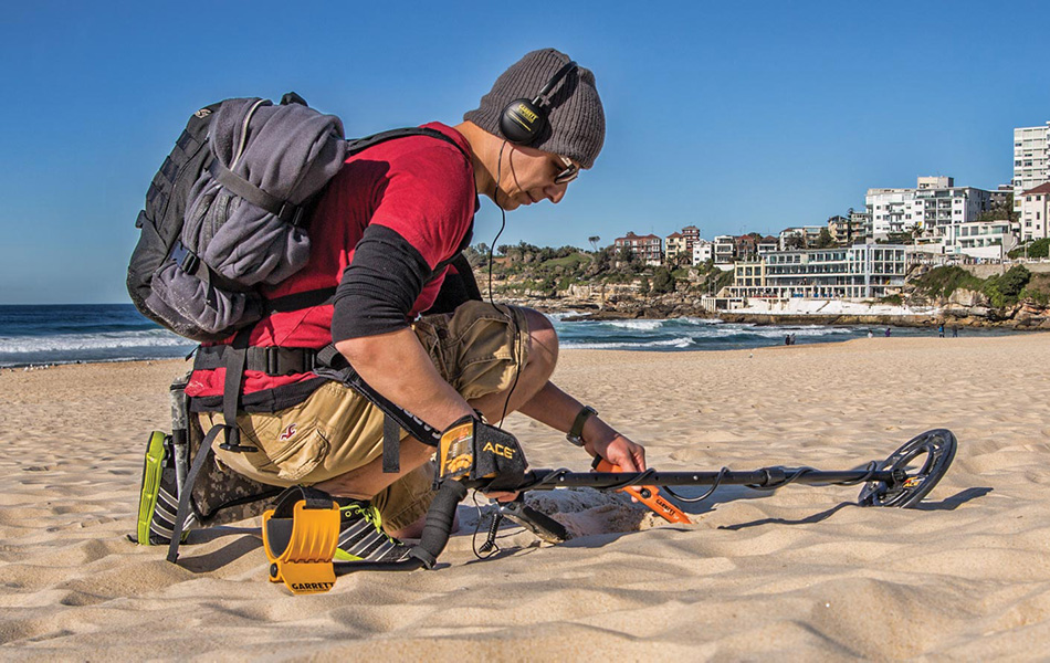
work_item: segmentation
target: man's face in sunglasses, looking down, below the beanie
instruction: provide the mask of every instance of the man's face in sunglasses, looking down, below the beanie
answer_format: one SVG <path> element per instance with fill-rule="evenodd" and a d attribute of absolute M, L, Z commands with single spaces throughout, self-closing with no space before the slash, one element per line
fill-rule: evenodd
<path fill-rule="evenodd" d="M 557 203 L 565 197 L 568 181 L 559 183 L 555 180 L 568 166 L 558 155 L 506 144 L 502 160 L 496 202 L 504 210 L 515 210 L 544 199 Z"/>

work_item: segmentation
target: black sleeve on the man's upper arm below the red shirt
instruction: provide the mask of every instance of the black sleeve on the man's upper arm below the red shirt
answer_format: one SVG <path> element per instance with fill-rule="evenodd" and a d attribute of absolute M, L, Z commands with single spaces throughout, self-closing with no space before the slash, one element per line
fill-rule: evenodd
<path fill-rule="evenodd" d="M 336 288 L 332 341 L 408 327 L 412 305 L 431 275 L 408 240 L 385 225 L 369 225 Z"/>

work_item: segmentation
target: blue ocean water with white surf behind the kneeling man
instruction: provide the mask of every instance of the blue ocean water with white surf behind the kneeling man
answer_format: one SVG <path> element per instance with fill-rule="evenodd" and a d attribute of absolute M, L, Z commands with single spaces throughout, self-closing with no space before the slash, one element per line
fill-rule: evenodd
<path fill-rule="evenodd" d="M 868 327 L 756 326 L 710 318 L 579 320 L 552 316 L 564 348 L 687 351 L 746 349 L 861 338 Z M 885 327 L 873 328 L 883 336 Z M 936 328 L 893 327 L 893 336 L 936 336 Z M 963 336 L 1008 334 L 963 329 Z M 947 333 L 951 336 L 951 332 Z M 0 306 L 0 367 L 77 361 L 129 361 L 187 356 L 196 346 L 143 317 L 130 304 Z"/>

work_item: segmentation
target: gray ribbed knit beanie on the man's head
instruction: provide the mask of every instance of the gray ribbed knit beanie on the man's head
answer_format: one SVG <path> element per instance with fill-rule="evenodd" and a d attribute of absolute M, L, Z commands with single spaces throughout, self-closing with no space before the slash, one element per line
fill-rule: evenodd
<path fill-rule="evenodd" d="M 511 65 L 495 85 L 481 97 L 481 107 L 463 115 L 493 136 L 500 133 L 503 109 L 518 98 L 535 98 L 569 56 L 554 49 L 533 51 Z M 606 139 L 606 114 L 595 87 L 595 74 L 584 67 L 569 72 L 554 88 L 547 108 L 550 128 L 529 145 L 536 149 L 568 157 L 590 168 Z"/>

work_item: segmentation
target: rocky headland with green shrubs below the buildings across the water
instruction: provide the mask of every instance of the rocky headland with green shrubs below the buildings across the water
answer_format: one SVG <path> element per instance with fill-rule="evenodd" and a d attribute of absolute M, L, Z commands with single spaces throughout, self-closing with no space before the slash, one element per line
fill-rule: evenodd
<path fill-rule="evenodd" d="M 561 250 L 566 255 L 545 257 L 542 252 L 553 250 L 507 251 L 508 256 L 494 261 L 495 299 L 580 318 L 717 317 L 757 325 L 1050 329 L 1050 273 L 1037 269 L 1041 265 L 1032 271 L 1001 265 L 987 276 L 975 273 L 973 265 L 914 265 L 904 285 L 881 299 L 752 298 L 735 301 L 732 311 L 708 311 L 702 297 L 731 285 L 732 272 L 710 266 L 632 272 L 641 267 L 629 270 L 608 257 L 602 263 L 601 253 L 594 257 Z M 613 264 L 619 266 L 613 269 Z M 487 298 L 487 271 L 479 265 L 475 275 Z"/>

